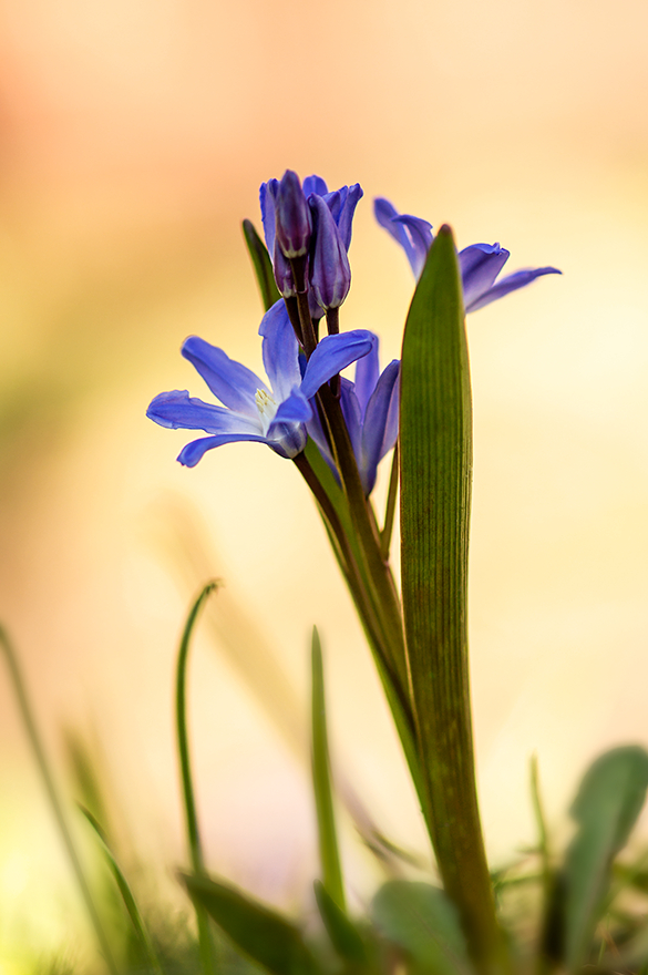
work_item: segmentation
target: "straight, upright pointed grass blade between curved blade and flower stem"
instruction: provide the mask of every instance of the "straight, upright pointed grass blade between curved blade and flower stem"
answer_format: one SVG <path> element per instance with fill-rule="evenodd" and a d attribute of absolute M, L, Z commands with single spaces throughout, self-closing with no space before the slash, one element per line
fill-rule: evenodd
<path fill-rule="evenodd" d="M 338 907 L 343 912 L 344 884 L 340 866 L 336 814 L 331 789 L 331 770 L 327 733 L 327 711 L 323 686 L 321 645 L 317 628 L 312 628 L 312 790 L 317 813 L 319 859 L 323 885 Z"/>

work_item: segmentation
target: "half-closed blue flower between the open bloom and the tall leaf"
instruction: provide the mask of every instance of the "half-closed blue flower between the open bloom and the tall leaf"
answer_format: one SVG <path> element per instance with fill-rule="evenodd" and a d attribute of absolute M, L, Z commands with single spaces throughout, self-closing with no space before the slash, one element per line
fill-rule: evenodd
<path fill-rule="evenodd" d="M 340 404 L 367 495 L 376 484 L 378 464 L 397 442 L 400 365 L 398 359 L 393 359 L 380 372 L 377 338 L 369 355 L 356 365 L 356 381 L 341 380 Z M 337 476 L 317 413 L 313 413 L 307 429 Z"/>

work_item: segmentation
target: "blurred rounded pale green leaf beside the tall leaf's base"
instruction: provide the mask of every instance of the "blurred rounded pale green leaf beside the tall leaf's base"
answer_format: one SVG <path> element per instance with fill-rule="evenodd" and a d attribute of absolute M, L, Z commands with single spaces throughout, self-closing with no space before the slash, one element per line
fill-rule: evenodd
<path fill-rule="evenodd" d="M 466 975 L 472 971 L 456 910 L 439 887 L 390 881 L 376 894 L 372 916 L 416 972 Z"/>

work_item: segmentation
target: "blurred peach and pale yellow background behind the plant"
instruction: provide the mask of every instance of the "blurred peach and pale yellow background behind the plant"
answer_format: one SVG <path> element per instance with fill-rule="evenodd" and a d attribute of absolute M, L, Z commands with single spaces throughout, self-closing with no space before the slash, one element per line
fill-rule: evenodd
<path fill-rule="evenodd" d="M 384 361 L 413 280 L 373 196 L 452 224 L 460 247 L 501 242 L 511 270 L 564 271 L 469 319 L 472 677 L 493 863 L 533 841 L 533 752 L 559 831 L 589 758 L 648 743 L 647 35 L 641 0 L 1 4 L 0 618 L 62 788 L 74 796 L 72 737 L 153 900 L 183 906 L 173 669 L 212 576 L 225 586 L 192 661 L 212 869 L 284 907 L 309 903 L 313 623 L 336 764 L 380 829 L 426 856 L 296 470 L 258 444 L 185 470 L 188 438 L 144 415 L 162 390 L 204 394 L 178 355 L 189 333 L 260 370 L 240 220 L 260 228 L 258 186 L 286 167 L 362 184 L 342 327 L 377 331 Z M 3 673 L 0 728 L 11 973 L 27 945 L 72 951 L 85 922 Z M 342 834 L 359 904 L 379 874 L 350 821 Z"/>

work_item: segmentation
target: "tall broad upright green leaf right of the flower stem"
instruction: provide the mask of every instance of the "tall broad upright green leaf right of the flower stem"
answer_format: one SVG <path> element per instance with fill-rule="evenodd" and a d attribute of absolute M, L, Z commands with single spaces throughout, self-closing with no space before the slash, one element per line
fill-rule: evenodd
<path fill-rule="evenodd" d="M 497 967 L 504 948 L 482 840 L 470 710 L 471 387 L 449 227 L 434 239 L 405 324 L 399 450 L 403 614 L 423 811 L 471 955 Z"/>

